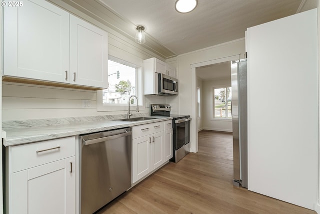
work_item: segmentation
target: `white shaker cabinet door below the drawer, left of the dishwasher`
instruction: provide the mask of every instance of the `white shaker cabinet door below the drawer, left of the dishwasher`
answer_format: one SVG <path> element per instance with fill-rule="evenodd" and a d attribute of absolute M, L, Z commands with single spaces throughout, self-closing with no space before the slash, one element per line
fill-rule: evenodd
<path fill-rule="evenodd" d="M 73 156 L 12 173 L 10 213 L 75 213 L 74 161 Z"/>

